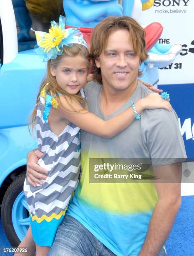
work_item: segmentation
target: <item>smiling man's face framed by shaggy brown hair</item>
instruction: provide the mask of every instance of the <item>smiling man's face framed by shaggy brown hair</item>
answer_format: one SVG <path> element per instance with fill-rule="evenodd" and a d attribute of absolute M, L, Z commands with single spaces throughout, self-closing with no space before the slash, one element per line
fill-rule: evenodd
<path fill-rule="evenodd" d="M 119 29 L 111 33 L 106 50 L 95 62 L 101 68 L 103 87 L 113 93 L 136 86 L 140 58 L 134 54 L 127 30 Z"/>

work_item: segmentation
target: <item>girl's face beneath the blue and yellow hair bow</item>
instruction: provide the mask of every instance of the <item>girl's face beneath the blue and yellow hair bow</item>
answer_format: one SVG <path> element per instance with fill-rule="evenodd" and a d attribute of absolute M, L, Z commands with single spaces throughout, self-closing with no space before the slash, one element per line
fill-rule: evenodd
<path fill-rule="evenodd" d="M 77 94 L 87 82 L 87 61 L 81 55 L 63 57 L 56 68 L 50 67 L 50 73 L 63 90 Z"/>

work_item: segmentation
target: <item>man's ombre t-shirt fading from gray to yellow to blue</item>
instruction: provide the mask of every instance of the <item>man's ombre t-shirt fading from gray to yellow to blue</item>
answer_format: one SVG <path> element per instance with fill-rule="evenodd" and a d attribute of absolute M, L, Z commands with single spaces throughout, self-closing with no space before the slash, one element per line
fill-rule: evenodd
<path fill-rule="evenodd" d="M 101 88 L 101 84 L 90 82 L 84 91 L 89 111 L 103 120 L 121 113 L 130 107 L 131 102 L 151 93 L 138 82 L 133 95 L 122 108 L 104 116 L 100 108 Z M 158 200 L 155 184 L 91 183 L 89 160 L 144 158 L 159 166 L 186 158 L 176 113 L 164 109 L 144 110 L 141 120 L 134 120 L 113 138 L 106 139 L 83 131 L 81 143 L 82 176 L 67 214 L 80 221 L 116 255 L 137 256 Z"/>

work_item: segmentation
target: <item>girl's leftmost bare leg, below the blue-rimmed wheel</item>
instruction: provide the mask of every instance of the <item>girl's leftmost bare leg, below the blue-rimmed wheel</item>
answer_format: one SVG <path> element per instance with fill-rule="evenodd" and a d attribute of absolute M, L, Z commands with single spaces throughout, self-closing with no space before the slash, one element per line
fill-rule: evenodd
<path fill-rule="evenodd" d="M 27 248 L 28 252 L 22 253 L 22 256 L 34 256 L 36 252 L 35 242 L 32 237 L 31 227 L 28 228 L 25 238 L 19 244 L 18 248 Z M 49 247 L 50 248 L 50 247 Z M 20 253 L 15 253 L 14 256 L 21 256 Z"/>

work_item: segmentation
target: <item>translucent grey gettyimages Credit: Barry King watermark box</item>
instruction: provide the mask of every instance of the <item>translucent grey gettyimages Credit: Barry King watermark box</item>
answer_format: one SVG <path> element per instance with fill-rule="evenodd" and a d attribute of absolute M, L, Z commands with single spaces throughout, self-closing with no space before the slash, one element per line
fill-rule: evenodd
<path fill-rule="evenodd" d="M 186 159 L 91 158 L 90 183 L 180 183 L 182 162 L 185 161 Z M 194 182 L 194 179 L 190 182 Z"/>

